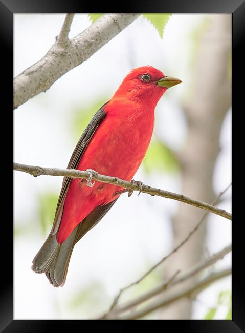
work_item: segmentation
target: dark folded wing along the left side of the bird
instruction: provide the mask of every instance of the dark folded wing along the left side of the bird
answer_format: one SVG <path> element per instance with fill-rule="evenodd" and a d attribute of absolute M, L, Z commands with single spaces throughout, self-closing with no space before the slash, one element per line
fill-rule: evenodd
<path fill-rule="evenodd" d="M 106 103 L 105 103 L 106 104 Z M 104 111 L 104 106 L 105 104 L 99 109 L 99 111 L 96 112 L 84 132 L 82 133 L 73 153 L 72 157 L 68 163 L 67 169 L 76 169 L 77 165 L 82 157 L 82 154 L 84 153 L 88 143 L 92 139 L 96 129 L 100 125 L 100 123 L 103 121 L 105 118 L 105 111 Z M 66 192 L 68 191 L 69 184 L 71 182 L 70 177 L 64 177 L 63 182 L 62 182 L 62 187 L 56 207 L 56 212 L 55 212 L 55 218 L 54 218 L 54 223 L 52 227 L 51 234 L 54 235 L 57 233 L 61 217 L 62 217 L 62 212 L 63 212 L 63 206 L 64 206 L 64 200 L 66 196 Z"/>

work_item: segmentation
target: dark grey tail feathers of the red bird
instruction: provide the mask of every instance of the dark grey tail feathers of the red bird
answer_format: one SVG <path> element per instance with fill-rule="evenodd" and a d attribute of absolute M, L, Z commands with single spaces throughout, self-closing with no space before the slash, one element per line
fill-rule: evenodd
<path fill-rule="evenodd" d="M 51 232 L 32 261 L 35 273 L 45 273 L 54 287 L 61 287 L 65 283 L 66 274 L 74 245 L 77 242 L 79 225 L 63 242 L 58 243 L 56 234 Z"/>

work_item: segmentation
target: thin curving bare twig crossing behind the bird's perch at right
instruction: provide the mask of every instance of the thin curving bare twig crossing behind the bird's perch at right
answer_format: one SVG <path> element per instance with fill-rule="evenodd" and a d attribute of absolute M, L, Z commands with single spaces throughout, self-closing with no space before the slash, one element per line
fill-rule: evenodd
<path fill-rule="evenodd" d="M 232 183 L 230 183 L 224 191 L 222 191 L 222 192 L 219 193 L 219 195 L 218 195 L 218 196 L 214 199 L 214 201 L 212 202 L 212 205 L 216 204 L 216 203 L 219 201 L 220 197 L 221 197 L 223 194 L 225 194 L 226 191 L 228 191 L 228 189 L 230 188 L 231 185 L 232 185 Z M 151 272 L 153 272 L 153 270 L 154 270 L 155 268 L 157 268 L 159 265 L 161 265 L 165 260 L 167 260 L 170 256 L 172 256 L 176 251 L 178 251 L 179 248 L 181 248 L 181 247 L 182 247 L 182 246 L 188 241 L 188 239 L 191 237 L 191 235 L 193 235 L 193 234 L 196 232 L 196 230 L 198 229 L 198 227 L 199 227 L 199 226 L 205 221 L 205 219 L 206 219 L 208 213 L 209 213 L 209 212 L 207 212 L 207 213 L 204 214 L 204 216 L 202 217 L 202 219 L 196 224 L 196 226 L 195 226 L 195 227 L 193 228 L 193 230 L 188 234 L 188 236 L 187 236 L 187 237 L 186 237 L 186 238 L 185 238 L 185 239 L 184 239 L 184 240 L 183 240 L 178 246 L 176 246 L 176 247 L 175 247 L 175 248 L 174 248 L 174 249 L 173 249 L 173 250 L 172 250 L 167 256 L 163 257 L 163 258 L 162 258 L 157 264 L 155 264 L 155 265 L 152 266 L 149 270 L 147 270 L 147 272 L 146 272 L 141 278 L 139 278 L 139 279 L 136 280 L 135 282 L 132 282 L 131 284 L 127 285 L 126 287 L 120 289 L 118 295 L 114 298 L 114 301 L 113 301 L 112 305 L 110 305 L 110 308 L 109 308 L 109 310 L 108 310 L 108 313 L 109 313 L 110 311 L 112 311 L 113 308 L 117 305 L 119 298 L 121 297 L 122 293 L 123 293 L 125 290 L 129 289 L 130 287 L 132 287 L 132 286 L 134 286 L 134 285 L 136 285 L 136 284 L 138 284 L 138 283 L 140 283 L 140 282 L 141 282 L 144 278 L 146 278 Z"/>

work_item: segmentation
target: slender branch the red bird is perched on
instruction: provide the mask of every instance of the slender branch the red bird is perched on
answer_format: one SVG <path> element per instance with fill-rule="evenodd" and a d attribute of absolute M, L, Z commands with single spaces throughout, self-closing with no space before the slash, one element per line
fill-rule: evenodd
<path fill-rule="evenodd" d="M 19 163 L 13 163 L 13 170 L 27 172 L 35 177 L 40 176 L 40 175 L 47 175 L 47 176 L 65 176 L 65 177 L 71 177 L 71 178 L 85 178 L 86 179 L 90 175 L 87 171 L 81 171 L 81 170 L 75 170 L 75 169 L 43 168 L 41 166 L 33 166 L 33 165 L 26 165 L 26 164 L 19 164 Z M 118 177 L 99 175 L 95 171 L 93 171 L 93 177 L 91 177 L 90 179 L 101 181 L 101 182 L 108 183 L 108 184 L 121 186 L 125 189 L 132 190 L 132 191 L 139 191 L 139 185 L 137 183 L 131 183 L 129 181 L 119 179 Z M 202 208 L 206 211 L 220 215 L 229 220 L 232 219 L 232 214 L 228 213 L 227 211 L 217 208 L 215 206 L 212 206 L 211 204 L 188 198 L 182 194 L 177 194 L 177 193 L 173 193 L 173 192 L 169 192 L 169 191 L 152 188 L 151 186 L 144 185 L 144 184 L 142 184 L 141 192 L 148 193 L 151 195 L 158 195 L 160 197 L 188 203 L 192 206 L 195 206 L 197 208 Z"/>

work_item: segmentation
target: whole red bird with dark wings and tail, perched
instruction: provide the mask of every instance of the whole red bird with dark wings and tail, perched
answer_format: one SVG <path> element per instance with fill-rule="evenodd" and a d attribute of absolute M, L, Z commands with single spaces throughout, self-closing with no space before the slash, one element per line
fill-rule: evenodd
<path fill-rule="evenodd" d="M 154 109 L 164 92 L 182 81 L 152 66 L 133 69 L 82 133 L 68 169 L 93 169 L 131 181 L 148 149 Z M 63 286 L 76 242 L 119 198 L 120 186 L 64 177 L 52 230 L 33 259 L 32 269 Z"/>

